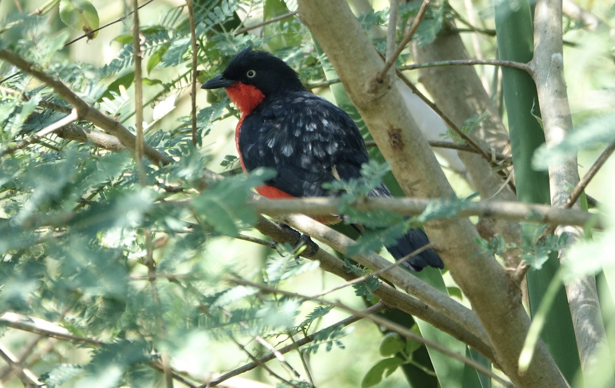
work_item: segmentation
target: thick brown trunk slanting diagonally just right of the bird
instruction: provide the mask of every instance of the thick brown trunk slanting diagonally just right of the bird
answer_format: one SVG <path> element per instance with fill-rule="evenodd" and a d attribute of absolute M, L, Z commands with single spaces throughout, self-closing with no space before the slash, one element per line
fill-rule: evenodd
<path fill-rule="evenodd" d="M 344 81 L 378 148 L 407 195 L 449 197 L 453 191 L 390 78 L 378 82 L 382 60 L 343 0 L 300 0 L 301 20 Z M 408 168 L 412 166 L 412 168 Z M 476 255 L 469 220 L 425 225 L 454 280 L 466 293 L 491 340 L 502 371 L 518 386 L 566 386 L 544 344 L 525 374 L 517 357 L 530 326 L 517 285 L 488 255 Z"/>

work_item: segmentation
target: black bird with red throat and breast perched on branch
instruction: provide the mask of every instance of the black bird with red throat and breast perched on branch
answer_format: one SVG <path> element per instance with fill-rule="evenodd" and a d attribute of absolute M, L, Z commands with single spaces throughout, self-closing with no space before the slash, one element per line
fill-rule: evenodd
<path fill-rule="evenodd" d="M 247 48 L 201 88 L 225 88 L 239 107 L 235 142 L 242 169 L 246 173 L 259 167 L 276 171 L 275 177 L 256 188 L 263 196 L 327 196 L 323 183 L 360 177 L 361 166 L 368 162 L 365 143 L 352 118 L 309 93 L 298 74 L 276 56 Z M 391 193 L 383 184 L 372 195 Z M 387 250 L 399 260 L 427 243 L 424 231 L 411 229 Z M 413 271 L 428 265 L 444 267 L 431 249 L 403 265 Z"/>

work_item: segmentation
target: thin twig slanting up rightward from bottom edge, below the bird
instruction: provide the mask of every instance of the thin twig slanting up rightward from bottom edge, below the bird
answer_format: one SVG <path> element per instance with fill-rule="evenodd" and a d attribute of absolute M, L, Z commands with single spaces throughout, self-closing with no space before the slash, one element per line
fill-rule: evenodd
<path fill-rule="evenodd" d="M 371 315 L 371 314 L 376 314 L 376 312 L 383 311 L 384 309 L 386 309 L 386 306 L 384 305 L 384 303 L 380 301 L 378 304 L 361 311 L 361 314 L 353 314 L 347 317 L 346 319 L 340 320 L 339 322 L 336 322 L 333 325 L 330 325 L 328 327 L 325 327 L 319 330 L 318 332 L 305 336 L 304 338 L 301 338 L 301 340 L 295 341 L 290 345 L 277 349 L 277 352 L 279 352 L 280 354 L 286 354 L 290 351 L 294 351 L 295 349 L 298 349 L 300 346 L 311 343 L 312 341 L 314 341 L 315 338 L 317 338 L 322 333 L 329 333 L 334 328 L 346 327 L 347 325 L 354 324 L 354 322 L 357 322 L 358 320 L 363 319 L 363 317 Z M 273 353 L 269 353 L 268 355 L 260 357 L 258 359 L 258 362 L 250 362 L 245 365 L 242 365 L 239 368 L 229 371 L 228 373 L 224 373 L 222 376 L 219 376 L 211 381 L 208 381 L 206 384 L 203 384 L 200 388 L 214 387 L 220 384 L 221 382 L 228 380 L 229 378 L 237 376 L 238 374 L 245 373 L 249 370 L 253 370 L 254 368 L 258 367 L 258 365 L 261 365 L 262 363 L 268 362 L 275 358 L 276 358 L 276 355 L 274 355 Z"/>

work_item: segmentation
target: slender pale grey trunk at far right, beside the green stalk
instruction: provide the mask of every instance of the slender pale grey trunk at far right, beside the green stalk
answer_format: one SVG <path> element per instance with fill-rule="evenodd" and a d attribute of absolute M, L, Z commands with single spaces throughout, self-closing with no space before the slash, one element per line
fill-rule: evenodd
<path fill-rule="evenodd" d="M 539 0 L 534 15 L 534 58 L 531 66 L 536 82 L 542 124 L 547 146 L 560 143 L 573 128 L 566 82 L 563 76 L 563 52 L 561 42 L 561 0 Z M 567 206 L 571 188 L 579 182 L 577 158 L 568 157 L 549 165 L 549 186 L 553 206 Z M 573 204 L 579 208 L 579 204 Z M 579 227 L 558 227 L 557 235 L 568 235 L 568 242 L 582 238 Z M 560 262 L 568 260 L 565 250 L 560 251 Z M 607 349 L 605 327 L 600 311 L 595 277 L 579 277 L 566 282 L 566 296 L 573 319 L 574 335 L 579 347 L 581 369 L 585 384 L 592 386 L 598 374 L 598 355 Z M 610 374 L 611 378 L 613 374 Z M 611 380 L 611 384 L 615 381 Z"/>

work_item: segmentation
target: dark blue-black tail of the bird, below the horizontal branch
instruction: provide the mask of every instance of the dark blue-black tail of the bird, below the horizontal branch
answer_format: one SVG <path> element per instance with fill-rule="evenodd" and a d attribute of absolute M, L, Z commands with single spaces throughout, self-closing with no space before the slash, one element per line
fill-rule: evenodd
<path fill-rule="evenodd" d="M 389 188 L 383 184 L 376 187 L 373 190 L 372 195 L 391 197 L 391 192 L 389 192 Z M 415 250 L 424 247 L 427 244 L 429 244 L 429 239 L 427 239 L 427 235 L 423 230 L 410 229 L 408 230 L 408 233 L 397 239 L 397 243 L 395 243 L 395 245 L 387 246 L 386 249 L 392 257 L 395 258 L 395 260 L 399 260 L 400 258 L 411 254 Z M 444 268 L 442 259 L 432 249 L 424 250 L 420 254 L 408 258 L 408 260 L 403 262 L 402 265 L 411 271 L 421 271 L 426 266 L 440 268 L 441 270 Z"/>

